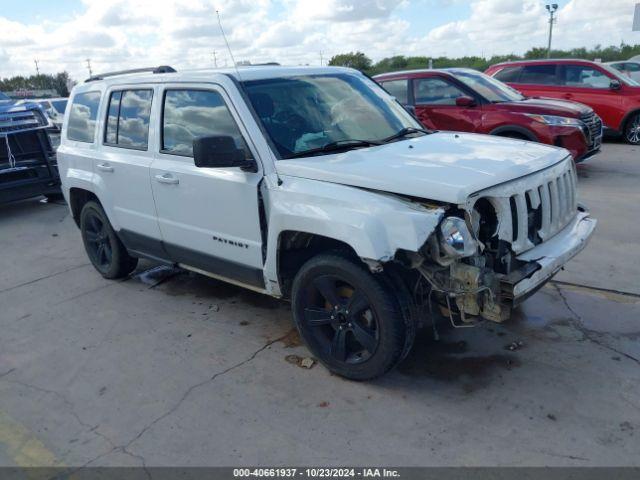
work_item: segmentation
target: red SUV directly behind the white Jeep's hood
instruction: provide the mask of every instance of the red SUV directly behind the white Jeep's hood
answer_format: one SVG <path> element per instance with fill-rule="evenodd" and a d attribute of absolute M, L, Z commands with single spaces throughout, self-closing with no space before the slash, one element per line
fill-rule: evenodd
<path fill-rule="evenodd" d="M 602 122 L 579 103 L 525 98 L 476 70 L 451 68 L 378 75 L 425 127 L 487 133 L 564 147 L 576 162 L 600 150 Z"/>

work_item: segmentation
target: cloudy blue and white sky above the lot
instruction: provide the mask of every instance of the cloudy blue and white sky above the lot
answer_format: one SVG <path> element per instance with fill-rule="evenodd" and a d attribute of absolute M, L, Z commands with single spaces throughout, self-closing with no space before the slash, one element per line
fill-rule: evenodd
<path fill-rule="evenodd" d="M 631 32 L 640 0 L 557 0 L 554 47 L 640 44 Z M 523 53 L 545 46 L 543 0 L 0 0 L 0 77 L 67 70 L 94 73 L 167 64 L 231 65 L 215 9 L 236 60 L 320 64 L 360 50 L 459 57 Z"/>

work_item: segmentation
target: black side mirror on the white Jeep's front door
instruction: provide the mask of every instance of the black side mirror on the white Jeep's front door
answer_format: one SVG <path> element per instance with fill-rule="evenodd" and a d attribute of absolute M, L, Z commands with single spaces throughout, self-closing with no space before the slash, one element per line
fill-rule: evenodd
<path fill-rule="evenodd" d="M 240 167 L 250 172 L 258 171 L 256 162 L 247 160 L 244 150 L 238 148 L 233 137 L 227 135 L 194 139 L 193 161 L 200 168 Z"/>

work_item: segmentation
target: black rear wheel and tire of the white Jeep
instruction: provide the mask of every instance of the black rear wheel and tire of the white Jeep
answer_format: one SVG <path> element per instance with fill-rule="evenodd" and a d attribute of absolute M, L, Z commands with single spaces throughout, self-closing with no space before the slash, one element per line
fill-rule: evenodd
<path fill-rule="evenodd" d="M 104 278 L 123 278 L 135 270 L 138 259 L 129 255 L 100 204 L 84 205 L 80 232 L 89 260 Z"/>

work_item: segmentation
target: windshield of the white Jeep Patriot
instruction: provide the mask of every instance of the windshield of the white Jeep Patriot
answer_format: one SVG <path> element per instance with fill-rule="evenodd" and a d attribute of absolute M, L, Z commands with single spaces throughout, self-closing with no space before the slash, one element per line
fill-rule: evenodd
<path fill-rule="evenodd" d="M 243 85 L 282 159 L 336 142 L 344 142 L 345 149 L 362 148 L 404 128 L 421 128 L 398 102 L 359 74 L 270 78 Z"/>

